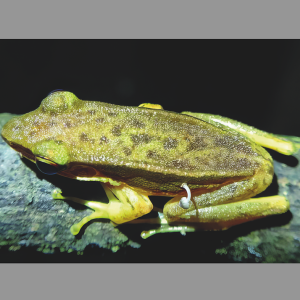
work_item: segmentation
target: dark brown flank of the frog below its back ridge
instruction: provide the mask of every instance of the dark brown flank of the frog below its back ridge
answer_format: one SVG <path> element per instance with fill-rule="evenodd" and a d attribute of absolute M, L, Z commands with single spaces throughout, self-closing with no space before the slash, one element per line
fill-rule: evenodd
<path fill-rule="evenodd" d="M 267 161 L 266 161 L 267 162 Z M 255 164 L 260 166 L 260 164 Z M 187 183 L 189 188 L 197 193 L 206 193 L 221 188 L 232 182 L 251 178 L 257 168 L 245 168 L 242 164 L 236 165 L 237 170 L 227 169 L 216 172 L 216 170 L 193 170 L 178 172 L 178 170 L 149 170 L 146 168 L 133 168 L 127 166 L 108 165 L 78 165 L 72 164 L 68 170 L 62 171 L 60 175 L 71 178 L 89 178 L 97 180 L 99 177 L 111 178 L 114 181 L 123 182 L 127 185 L 148 195 L 175 196 L 184 194 L 181 185 Z M 176 172 L 177 171 L 177 172 Z M 270 172 L 273 172 L 270 164 Z"/>

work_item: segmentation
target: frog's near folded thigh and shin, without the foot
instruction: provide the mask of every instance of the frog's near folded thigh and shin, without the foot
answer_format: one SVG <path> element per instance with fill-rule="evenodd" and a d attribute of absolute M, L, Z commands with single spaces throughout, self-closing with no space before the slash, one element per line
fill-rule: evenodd
<path fill-rule="evenodd" d="M 176 196 L 166 203 L 164 216 L 168 223 L 200 223 L 204 229 L 226 229 L 267 215 L 284 213 L 288 201 L 281 196 L 252 198 L 272 182 L 273 173 L 262 166 L 247 180 L 234 182 L 211 193 L 193 195 L 188 209 L 179 206 Z"/>

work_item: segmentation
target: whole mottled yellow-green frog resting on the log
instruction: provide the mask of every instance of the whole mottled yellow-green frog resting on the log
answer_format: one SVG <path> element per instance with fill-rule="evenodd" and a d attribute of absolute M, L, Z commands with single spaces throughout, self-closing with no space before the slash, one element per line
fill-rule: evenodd
<path fill-rule="evenodd" d="M 114 226 L 150 223 L 156 233 L 226 230 L 289 210 L 284 196 L 255 197 L 272 182 L 265 148 L 292 155 L 286 138 L 208 113 L 181 113 L 159 104 L 121 106 L 51 92 L 34 111 L 12 118 L 4 141 L 45 174 L 98 181 L 108 203 L 63 196 L 94 212 L 70 228 L 77 235 L 96 219 Z M 75 182 L 75 181 L 74 181 Z M 163 207 L 149 196 L 171 197 Z M 156 218 L 142 218 L 152 210 Z M 91 222 L 92 223 L 92 222 Z"/>

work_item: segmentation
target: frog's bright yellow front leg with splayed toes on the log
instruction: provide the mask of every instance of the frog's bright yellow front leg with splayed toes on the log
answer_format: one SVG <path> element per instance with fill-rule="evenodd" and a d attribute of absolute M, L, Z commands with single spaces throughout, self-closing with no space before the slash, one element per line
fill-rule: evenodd
<path fill-rule="evenodd" d="M 83 204 L 95 212 L 83 218 L 79 223 L 71 227 L 71 233 L 76 235 L 87 222 L 98 219 L 110 219 L 115 224 L 122 224 L 149 213 L 153 205 L 148 196 L 139 194 L 125 184 L 113 186 L 109 183 L 101 183 L 109 199 L 109 203 L 99 201 L 82 200 L 75 197 L 63 197 L 60 192 L 54 192 L 54 199 L 72 200 Z"/>

